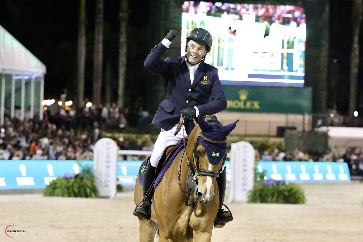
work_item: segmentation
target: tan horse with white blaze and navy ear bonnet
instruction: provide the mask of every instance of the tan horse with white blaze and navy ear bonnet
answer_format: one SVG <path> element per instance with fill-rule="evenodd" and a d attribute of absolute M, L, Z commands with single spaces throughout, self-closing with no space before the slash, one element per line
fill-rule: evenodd
<path fill-rule="evenodd" d="M 154 241 L 157 231 L 160 242 L 211 241 L 219 208 L 216 177 L 227 155 L 227 135 L 238 120 L 223 126 L 215 116 L 206 120 L 200 116 L 185 149 L 175 156 L 155 189 L 151 220 L 140 220 L 140 242 Z M 141 200 L 137 178 L 135 204 Z"/>

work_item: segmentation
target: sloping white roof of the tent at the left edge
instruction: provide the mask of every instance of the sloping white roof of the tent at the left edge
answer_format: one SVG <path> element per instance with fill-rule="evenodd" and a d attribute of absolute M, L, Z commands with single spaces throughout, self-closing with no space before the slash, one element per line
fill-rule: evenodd
<path fill-rule="evenodd" d="M 0 73 L 44 75 L 45 65 L 0 25 Z"/>

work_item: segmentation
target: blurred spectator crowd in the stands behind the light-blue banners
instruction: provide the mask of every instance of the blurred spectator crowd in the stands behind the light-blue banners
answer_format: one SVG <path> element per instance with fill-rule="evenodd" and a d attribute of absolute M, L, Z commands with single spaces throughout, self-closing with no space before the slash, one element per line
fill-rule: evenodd
<path fill-rule="evenodd" d="M 125 115 L 119 112 L 115 103 L 109 109 L 102 105 L 97 109 L 83 108 L 80 118 L 76 117 L 72 112 L 60 111 L 54 116 L 44 112 L 42 121 L 5 118 L 0 127 L 0 160 L 93 160 L 93 148 L 100 138 L 100 129 L 117 127 L 117 131 L 122 132 L 127 127 Z M 132 149 L 123 137 L 115 142 L 119 149 Z M 133 149 L 152 151 L 153 146 L 151 140 L 138 140 Z M 140 160 L 143 157 L 118 155 L 118 159 Z M 363 152 L 359 147 L 348 147 L 343 155 L 338 152 L 309 155 L 297 149 L 293 152 L 278 148 L 273 151 L 256 149 L 255 160 L 345 162 L 351 174 L 363 175 Z"/>

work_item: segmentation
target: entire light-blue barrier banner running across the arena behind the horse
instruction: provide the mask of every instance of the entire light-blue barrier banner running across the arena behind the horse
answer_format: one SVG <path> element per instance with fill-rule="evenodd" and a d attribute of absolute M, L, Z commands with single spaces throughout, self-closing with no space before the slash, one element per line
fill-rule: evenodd
<path fill-rule="evenodd" d="M 134 186 L 142 161 L 118 161 L 118 183 Z M 93 161 L 81 161 L 81 166 Z M 225 161 L 227 182 L 231 181 L 231 163 Z M 290 182 L 350 181 L 346 163 L 307 161 L 258 161 L 259 171 L 266 171 L 267 179 Z M 66 172 L 80 172 L 75 160 L 0 160 L 0 190 L 45 188 L 50 181 Z"/>

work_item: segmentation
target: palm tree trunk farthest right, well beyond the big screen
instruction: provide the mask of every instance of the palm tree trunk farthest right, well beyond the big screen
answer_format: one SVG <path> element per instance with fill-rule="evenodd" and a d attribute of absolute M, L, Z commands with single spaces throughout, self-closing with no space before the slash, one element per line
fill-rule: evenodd
<path fill-rule="evenodd" d="M 359 67 L 359 30 L 362 22 L 362 0 L 352 1 L 352 25 L 353 42 L 350 54 L 350 96 L 349 96 L 349 118 L 352 121 L 354 111 L 356 111 L 358 95 L 358 67 Z"/>

